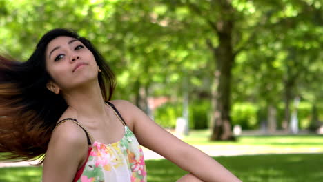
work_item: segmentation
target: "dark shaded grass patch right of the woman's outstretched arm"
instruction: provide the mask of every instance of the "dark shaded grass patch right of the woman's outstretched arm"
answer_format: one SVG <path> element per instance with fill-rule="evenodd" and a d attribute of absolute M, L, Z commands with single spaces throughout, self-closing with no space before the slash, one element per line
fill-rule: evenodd
<path fill-rule="evenodd" d="M 304 182 L 323 179 L 323 154 L 223 156 L 215 159 L 242 181 Z"/>

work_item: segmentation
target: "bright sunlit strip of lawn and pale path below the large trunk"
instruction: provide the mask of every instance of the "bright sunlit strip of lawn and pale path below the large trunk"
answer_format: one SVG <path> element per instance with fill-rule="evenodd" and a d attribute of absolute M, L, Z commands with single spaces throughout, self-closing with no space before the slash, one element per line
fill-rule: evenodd
<path fill-rule="evenodd" d="M 195 130 L 182 140 L 190 145 L 208 145 L 210 150 L 236 154 L 322 153 L 323 135 L 237 136 L 237 141 L 209 141 L 210 130 Z"/>

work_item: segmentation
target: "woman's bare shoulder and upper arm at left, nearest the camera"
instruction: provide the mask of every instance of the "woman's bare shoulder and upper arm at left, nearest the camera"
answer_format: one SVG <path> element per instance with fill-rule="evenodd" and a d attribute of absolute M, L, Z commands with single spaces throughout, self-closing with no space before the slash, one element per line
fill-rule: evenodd
<path fill-rule="evenodd" d="M 43 182 L 71 182 L 87 152 L 86 134 L 79 126 L 72 122 L 59 125 L 48 144 Z"/>

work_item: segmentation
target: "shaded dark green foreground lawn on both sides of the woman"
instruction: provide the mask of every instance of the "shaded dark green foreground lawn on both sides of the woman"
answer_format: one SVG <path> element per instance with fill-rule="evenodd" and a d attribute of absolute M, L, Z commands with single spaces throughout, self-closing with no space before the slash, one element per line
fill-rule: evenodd
<path fill-rule="evenodd" d="M 310 182 L 323 179 L 323 154 L 270 154 L 215 157 L 245 182 Z M 173 182 L 186 174 L 173 163 L 146 161 L 149 182 Z M 40 181 L 41 167 L 0 168 L 0 181 Z"/>

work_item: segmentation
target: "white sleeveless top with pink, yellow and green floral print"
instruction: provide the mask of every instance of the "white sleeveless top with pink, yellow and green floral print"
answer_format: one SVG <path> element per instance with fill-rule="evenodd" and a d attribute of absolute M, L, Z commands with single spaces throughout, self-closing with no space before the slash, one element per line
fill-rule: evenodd
<path fill-rule="evenodd" d="M 95 141 L 84 171 L 77 182 L 146 182 L 142 149 L 128 126 L 120 141 L 104 144 Z"/>

